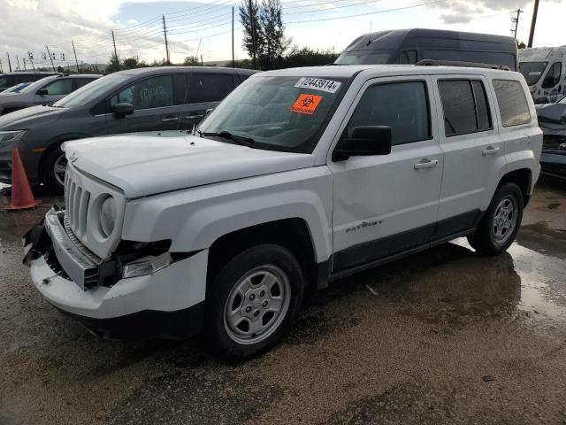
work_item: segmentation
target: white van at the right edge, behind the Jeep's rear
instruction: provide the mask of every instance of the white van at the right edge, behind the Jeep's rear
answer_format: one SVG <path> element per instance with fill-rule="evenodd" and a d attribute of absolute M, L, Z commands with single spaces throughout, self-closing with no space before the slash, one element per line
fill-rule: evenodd
<path fill-rule="evenodd" d="M 566 46 L 519 50 L 519 72 L 535 104 L 549 104 L 566 94 Z"/>

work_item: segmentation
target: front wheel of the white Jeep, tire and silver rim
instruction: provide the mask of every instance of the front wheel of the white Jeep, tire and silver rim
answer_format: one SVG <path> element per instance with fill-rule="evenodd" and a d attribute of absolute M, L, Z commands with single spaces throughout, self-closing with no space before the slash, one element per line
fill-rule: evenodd
<path fill-rule="evenodd" d="M 231 362 L 266 352 L 287 333 L 303 292 L 302 269 L 286 248 L 264 243 L 237 254 L 207 291 L 203 338 L 210 351 Z"/>

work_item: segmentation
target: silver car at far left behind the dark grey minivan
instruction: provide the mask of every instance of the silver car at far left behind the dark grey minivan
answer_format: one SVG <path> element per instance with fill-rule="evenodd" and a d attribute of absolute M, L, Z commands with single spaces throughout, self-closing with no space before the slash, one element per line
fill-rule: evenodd
<path fill-rule="evenodd" d="M 19 92 L 0 93 L 0 115 L 18 111 L 35 104 L 49 104 L 73 93 L 102 74 L 51 75 L 30 83 Z"/>

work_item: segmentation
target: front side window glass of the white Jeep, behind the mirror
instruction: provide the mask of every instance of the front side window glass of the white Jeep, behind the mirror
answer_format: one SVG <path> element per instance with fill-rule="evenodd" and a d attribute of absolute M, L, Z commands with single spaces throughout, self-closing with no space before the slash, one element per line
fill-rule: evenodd
<path fill-rule="evenodd" d="M 378 84 L 363 93 L 348 123 L 391 128 L 391 143 L 417 142 L 431 136 L 428 99 L 424 81 Z"/>

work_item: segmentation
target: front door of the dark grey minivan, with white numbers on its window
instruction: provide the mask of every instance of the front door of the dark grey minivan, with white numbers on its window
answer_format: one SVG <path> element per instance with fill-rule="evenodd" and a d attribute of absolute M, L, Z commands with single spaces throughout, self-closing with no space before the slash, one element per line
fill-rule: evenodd
<path fill-rule="evenodd" d="M 179 125 L 181 105 L 175 104 L 173 74 L 142 78 L 120 89 L 108 100 L 108 109 L 114 104 L 133 104 L 134 113 L 117 118 L 106 114 L 109 134 L 140 131 L 174 130 Z"/>

